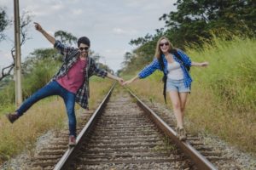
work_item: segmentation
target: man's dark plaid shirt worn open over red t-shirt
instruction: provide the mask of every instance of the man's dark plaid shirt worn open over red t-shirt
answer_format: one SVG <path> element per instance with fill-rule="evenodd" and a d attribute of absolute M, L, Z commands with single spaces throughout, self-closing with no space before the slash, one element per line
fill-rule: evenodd
<path fill-rule="evenodd" d="M 78 61 L 80 55 L 79 48 L 67 47 L 60 41 L 55 41 L 55 48 L 63 55 L 64 62 L 61 65 L 61 69 L 55 74 L 51 81 L 65 76 L 74 63 Z M 76 94 L 76 102 L 79 103 L 81 107 L 84 109 L 88 108 L 88 99 L 90 97 L 89 78 L 93 75 L 104 78 L 107 74 L 107 71 L 99 69 L 96 66 L 94 59 L 88 57 L 87 65 L 84 68 L 84 83 Z"/>

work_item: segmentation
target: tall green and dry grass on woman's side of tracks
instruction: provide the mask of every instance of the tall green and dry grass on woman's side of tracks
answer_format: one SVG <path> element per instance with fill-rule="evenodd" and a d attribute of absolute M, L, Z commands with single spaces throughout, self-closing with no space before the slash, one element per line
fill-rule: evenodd
<path fill-rule="evenodd" d="M 212 133 L 241 150 L 256 153 L 256 41 L 214 37 L 203 48 L 187 48 L 194 61 L 209 61 L 207 68 L 192 67 L 192 92 L 185 119 L 190 133 Z M 161 73 L 137 81 L 131 88 L 153 102 L 164 104 Z M 168 106 L 171 107 L 170 101 Z"/>

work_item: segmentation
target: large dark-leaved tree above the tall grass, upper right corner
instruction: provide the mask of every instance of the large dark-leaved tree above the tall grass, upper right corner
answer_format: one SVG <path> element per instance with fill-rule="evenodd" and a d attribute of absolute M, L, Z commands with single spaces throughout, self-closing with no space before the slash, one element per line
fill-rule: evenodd
<path fill-rule="evenodd" d="M 253 0 L 177 0 L 177 11 L 163 14 L 166 35 L 182 46 L 185 42 L 201 43 L 212 32 L 248 33 L 256 31 L 256 3 Z M 254 20 L 254 21 L 253 21 Z"/>

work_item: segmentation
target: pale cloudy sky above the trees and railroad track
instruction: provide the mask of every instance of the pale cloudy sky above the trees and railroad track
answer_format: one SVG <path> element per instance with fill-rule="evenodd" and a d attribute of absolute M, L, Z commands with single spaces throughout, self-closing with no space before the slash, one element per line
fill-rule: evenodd
<path fill-rule="evenodd" d="M 0 7 L 6 9 L 8 18 L 14 18 L 14 1 L 0 0 Z M 131 46 L 131 39 L 154 34 L 165 26 L 159 20 L 162 14 L 176 10 L 176 0 L 22 0 L 20 15 L 29 12 L 32 22 L 38 22 L 45 31 L 67 31 L 75 37 L 89 37 L 90 49 L 102 56 L 113 71 L 121 69 L 125 52 L 137 48 Z M 10 49 L 14 45 L 14 26 L 4 31 L 8 36 L 0 42 L 0 68 L 12 63 Z M 52 45 L 36 31 L 28 28 L 31 39 L 21 47 L 21 60 L 37 48 L 52 48 Z"/>

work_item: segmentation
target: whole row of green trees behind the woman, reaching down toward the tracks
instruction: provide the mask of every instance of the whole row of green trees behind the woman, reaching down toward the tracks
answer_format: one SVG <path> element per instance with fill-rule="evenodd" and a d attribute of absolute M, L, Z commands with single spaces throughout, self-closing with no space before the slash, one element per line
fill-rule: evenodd
<path fill-rule="evenodd" d="M 177 0 L 177 11 L 160 16 L 165 29 L 156 30 L 154 35 L 131 39 L 130 44 L 138 46 L 133 57 L 125 54 L 122 71 L 137 70 L 148 64 L 154 55 L 155 44 L 162 37 L 168 37 L 173 45 L 183 49 L 192 43 L 200 47 L 205 40 L 211 40 L 212 33 L 256 35 L 256 3 L 253 0 Z"/>

